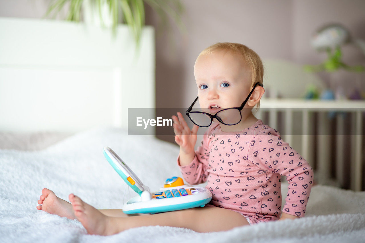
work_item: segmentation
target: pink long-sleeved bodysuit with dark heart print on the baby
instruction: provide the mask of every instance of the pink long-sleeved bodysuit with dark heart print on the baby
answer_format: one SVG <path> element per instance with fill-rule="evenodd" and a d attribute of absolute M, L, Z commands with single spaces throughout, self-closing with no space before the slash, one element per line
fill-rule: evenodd
<path fill-rule="evenodd" d="M 180 166 L 187 183 L 208 181 L 210 205 L 239 212 L 251 224 L 281 215 L 281 175 L 289 182 L 283 212 L 303 217 L 313 170 L 280 134 L 258 120 L 241 132 L 223 132 L 218 122 L 204 134 L 194 160 Z"/>

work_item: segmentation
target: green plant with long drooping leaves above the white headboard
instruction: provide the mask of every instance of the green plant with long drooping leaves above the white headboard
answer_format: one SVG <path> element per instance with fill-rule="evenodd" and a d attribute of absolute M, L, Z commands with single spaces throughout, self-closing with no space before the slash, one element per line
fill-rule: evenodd
<path fill-rule="evenodd" d="M 86 5 L 92 5 L 99 12 L 99 20 L 102 26 L 111 27 L 115 33 L 118 20 L 123 19 L 123 23 L 130 28 L 132 36 L 139 45 L 141 39 L 142 28 L 145 25 L 145 5 L 157 12 L 162 23 L 168 25 L 170 17 L 180 28 L 184 29 L 180 15 L 183 12 L 183 6 L 179 0 L 53 0 L 51 1 L 45 16 L 53 13 L 53 18 L 65 6 L 69 5 L 66 20 L 80 21 L 82 9 Z M 105 22 L 107 16 L 108 24 Z M 83 16 L 85 18 L 85 16 Z"/>

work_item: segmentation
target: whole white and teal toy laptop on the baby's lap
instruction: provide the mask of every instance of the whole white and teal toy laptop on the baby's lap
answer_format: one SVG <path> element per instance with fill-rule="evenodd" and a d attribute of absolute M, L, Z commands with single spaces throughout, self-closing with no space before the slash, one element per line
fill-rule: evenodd
<path fill-rule="evenodd" d="M 123 206 L 123 212 L 160 213 L 180 209 L 204 207 L 212 199 L 212 193 L 200 186 L 184 185 L 180 177 L 168 178 L 160 192 L 151 193 L 137 175 L 109 147 L 104 147 L 104 156 L 114 170 L 139 196 L 131 198 Z"/>

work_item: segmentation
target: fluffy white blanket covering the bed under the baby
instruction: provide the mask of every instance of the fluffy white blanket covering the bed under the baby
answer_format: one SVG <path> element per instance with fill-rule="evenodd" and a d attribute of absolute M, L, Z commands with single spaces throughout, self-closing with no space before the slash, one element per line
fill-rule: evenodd
<path fill-rule="evenodd" d="M 314 186 L 306 217 L 226 232 L 150 226 L 112 236 L 87 235 L 77 220 L 38 211 L 47 187 L 67 200 L 75 193 L 99 209 L 121 208 L 135 196 L 103 156 L 111 147 L 151 190 L 180 175 L 178 147 L 151 136 L 105 128 L 67 138 L 45 150 L 0 150 L 0 242 L 364 242 L 365 192 Z M 283 195 L 286 195 L 283 185 Z M 287 189 L 286 189 L 287 190 Z"/>

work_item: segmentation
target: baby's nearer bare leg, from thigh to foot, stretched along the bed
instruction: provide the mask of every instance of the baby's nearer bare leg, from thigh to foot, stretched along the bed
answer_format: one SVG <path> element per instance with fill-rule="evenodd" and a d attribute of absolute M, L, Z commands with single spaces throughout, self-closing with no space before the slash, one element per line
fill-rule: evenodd
<path fill-rule="evenodd" d="M 240 213 L 223 208 L 191 208 L 154 215 L 134 217 L 109 217 L 70 194 L 70 201 L 76 218 L 89 234 L 112 235 L 129 228 L 161 225 L 189 228 L 197 232 L 225 231 L 234 227 L 249 225 Z"/>

